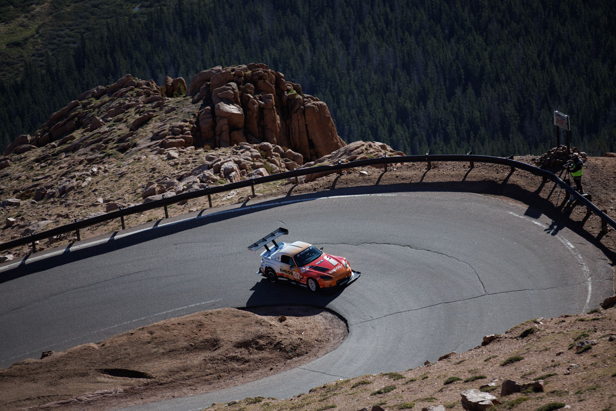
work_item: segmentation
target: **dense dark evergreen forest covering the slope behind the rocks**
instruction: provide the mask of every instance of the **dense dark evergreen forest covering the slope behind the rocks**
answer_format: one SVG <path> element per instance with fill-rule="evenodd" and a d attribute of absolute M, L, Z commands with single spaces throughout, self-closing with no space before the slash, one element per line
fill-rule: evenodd
<path fill-rule="evenodd" d="M 409 4 L 410 3 L 410 4 Z M 192 75 L 264 62 L 330 107 L 347 142 L 408 154 L 616 151 L 610 2 L 177 0 L 93 26 L 0 83 L 2 147 L 81 92 L 126 73 Z"/>

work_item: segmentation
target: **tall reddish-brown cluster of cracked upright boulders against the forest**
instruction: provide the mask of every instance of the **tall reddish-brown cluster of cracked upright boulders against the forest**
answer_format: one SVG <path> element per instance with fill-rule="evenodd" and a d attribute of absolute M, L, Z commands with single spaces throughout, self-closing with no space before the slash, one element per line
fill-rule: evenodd
<path fill-rule="evenodd" d="M 327 105 L 265 64 L 221 66 L 193 76 L 187 96 L 201 102 L 197 145 L 243 142 L 289 147 L 316 160 L 344 147 Z"/>

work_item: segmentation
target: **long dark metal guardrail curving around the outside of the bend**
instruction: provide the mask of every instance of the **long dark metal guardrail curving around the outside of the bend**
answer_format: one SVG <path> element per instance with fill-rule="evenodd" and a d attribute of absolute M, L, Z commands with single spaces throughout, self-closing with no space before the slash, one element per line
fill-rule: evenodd
<path fill-rule="evenodd" d="M 320 174 L 320 173 L 335 173 L 336 171 L 342 172 L 344 169 L 349 168 L 357 168 L 357 167 L 365 167 L 365 166 L 376 166 L 383 165 L 385 171 L 387 171 L 387 166 L 395 163 L 428 163 L 428 169 L 431 168 L 432 161 L 458 161 L 458 162 L 468 162 L 470 166 L 474 165 L 474 162 L 477 161 L 479 163 L 492 163 L 504 166 L 510 166 L 512 171 L 514 169 L 521 169 L 527 171 L 528 173 L 535 174 L 535 176 L 543 177 L 543 179 L 549 179 L 551 181 L 556 182 L 556 184 L 560 185 L 563 189 L 567 190 L 570 195 L 573 195 L 582 205 L 586 206 L 588 210 L 597 214 L 599 218 L 602 219 L 602 232 L 607 232 L 607 225 L 612 226 L 616 229 L 616 221 L 611 219 L 605 211 L 600 210 L 596 205 L 591 203 L 586 197 L 583 197 L 580 193 L 575 191 L 569 184 L 565 183 L 560 179 L 556 174 L 551 173 L 551 171 L 537 168 L 535 166 L 529 165 L 527 163 L 522 163 L 521 161 L 510 160 L 508 158 L 502 157 L 491 157 L 486 155 L 409 155 L 409 156 L 399 156 L 399 157 L 379 157 L 379 158 L 370 158 L 368 160 L 358 160 L 358 161 L 350 161 L 349 163 L 338 163 L 334 165 L 325 165 L 325 166 L 317 166 L 310 167 L 304 169 L 296 169 L 294 171 L 287 171 L 286 173 L 278 173 L 272 174 L 271 176 L 258 177 L 256 179 L 249 179 L 240 182 L 233 182 L 225 185 L 218 185 L 216 187 L 206 188 L 203 190 L 195 190 L 192 192 L 181 193 L 178 195 L 173 195 L 170 197 L 162 198 L 161 200 L 150 201 L 149 203 L 143 203 L 136 206 L 131 206 L 127 208 L 121 208 L 120 210 L 111 211 L 110 213 L 103 214 L 101 216 L 92 217 L 89 219 L 84 219 L 81 221 L 75 221 L 70 224 L 66 224 L 65 226 L 56 227 L 51 230 L 42 231 L 39 233 L 31 234 L 30 236 L 17 238 L 16 240 L 12 240 L 6 243 L 0 244 L 0 251 L 9 250 L 10 248 L 14 248 L 17 246 L 22 246 L 26 244 L 33 245 L 33 251 L 36 251 L 34 247 L 34 242 L 39 240 L 44 240 L 45 238 L 51 238 L 55 235 L 65 234 L 67 232 L 77 232 L 77 237 L 79 240 L 79 230 L 85 227 L 93 226 L 94 224 L 99 224 L 100 222 L 109 221 L 112 219 L 121 219 L 122 226 L 124 228 L 124 217 L 130 214 L 143 213 L 144 211 L 153 210 L 155 208 L 164 207 L 165 216 L 168 216 L 167 206 L 180 203 L 182 201 L 191 200 L 193 198 L 205 197 L 208 196 L 209 206 L 211 207 L 211 195 L 227 192 L 230 190 L 243 189 L 245 187 L 252 187 L 254 193 L 254 186 L 258 184 L 265 184 L 267 182 L 279 181 L 285 179 L 292 179 L 301 176 L 307 176 L 309 174 Z"/>

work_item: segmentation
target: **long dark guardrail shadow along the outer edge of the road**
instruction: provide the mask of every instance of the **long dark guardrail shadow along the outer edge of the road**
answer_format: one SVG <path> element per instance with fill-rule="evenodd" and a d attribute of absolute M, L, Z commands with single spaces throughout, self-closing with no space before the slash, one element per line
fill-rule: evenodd
<path fill-rule="evenodd" d="M 79 261 L 84 258 L 89 258 L 95 255 L 101 255 L 105 253 L 111 253 L 112 251 L 119 250 L 137 243 L 146 242 L 153 238 L 161 238 L 167 235 L 177 234 L 184 230 L 194 229 L 198 227 L 207 226 L 212 222 L 225 221 L 238 216 L 245 216 L 257 211 L 269 210 L 279 206 L 288 205 L 291 203 L 298 203 L 303 201 L 312 201 L 320 197 L 326 196 L 344 196 L 344 195 L 357 195 L 357 194 L 372 194 L 372 193 L 395 193 L 395 192 L 471 192 L 488 195 L 500 195 L 508 197 L 513 200 L 521 201 L 529 205 L 529 208 L 525 212 L 526 216 L 537 219 L 541 214 L 544 214 L 548 218 L 552 219 L 553 223 L 546 230 L 546 233 L 556 235 L 559 230 L 564 227 L 568 227 L 576 234 L 583 237 L 586 241 L 596 246 L 599 250 L 606 255 L 612 262 L 616 261 L 616 253 L 607 248 L 606 245 L 601 243 L 602 235 L 595 237 L 584 229 L 583 223 L 585 221 L 574 221 L 570 218 L 570 213 L 562 211 L 563 206 L 554 206 L 548 199 L 542 198 L 539 195 L 540 190 L 533 192 L 522 189 L 516 184 L 502 184 L 502 182 L 485 180 L 485 181 L 448 181 L 448 182 L 418 182 L 411 184 L 391 184 L 391 185 L 366 185 L 362 187 L 349 187 L 343 189 L 332 189 L 325 192 L 314 192 L 292 195 L 293 187 L 288 191 L 285 197 L 278 197 L 272 200 L 265 201 L 245 201 L 241 205 L 230 208 L 229 210 L 214 211 L 208 213 L 209 209 L 201 211 L 201 213 L 191 219 L 187 219 L 181 222 L 170 223 L 168 225 L 160 225 L 161 221 L 155 222 L 150 229 L 141 230 L 135 234 L 127 235 L 126 237 L 116 238 L 118 232 L 110 234 L 107 237 L 107 242 L 79 248 L 78 250 L 71 250 L 73 244 L 66 246 L 63 252 L 59 255 L 44 258 L 34 262 L 28 262 L 28 257 L 24 258 L 21 264 L 14 269 L 7 270 L 0 273 L 0 283 L 4 283 L 24 275 L 39 272 L 51 267 L 62 266 L 74 261 Z M 552 192 L 550 195 L 552 195 Z M 560 202 L 560 201 L 559 201 Z M 134 227 L 132 230 L 143 229 L 144 227 Z M 46 250 L 44 253 L 49 253 L 52 250 Z M 27 262 L 27 264 L 26 264 Z"/>

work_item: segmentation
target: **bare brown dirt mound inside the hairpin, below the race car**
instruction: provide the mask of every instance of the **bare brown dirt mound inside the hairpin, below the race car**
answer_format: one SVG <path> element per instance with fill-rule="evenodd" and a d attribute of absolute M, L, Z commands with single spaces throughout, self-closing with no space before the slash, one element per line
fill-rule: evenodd
<path fill-rule="evenodd" d="M 18 362 L 0 372 L 0 409 L 108 410 L 206 393 L 306 364 L 347 335 L 323 309 L 250 311 L 197 312 Z"/>

